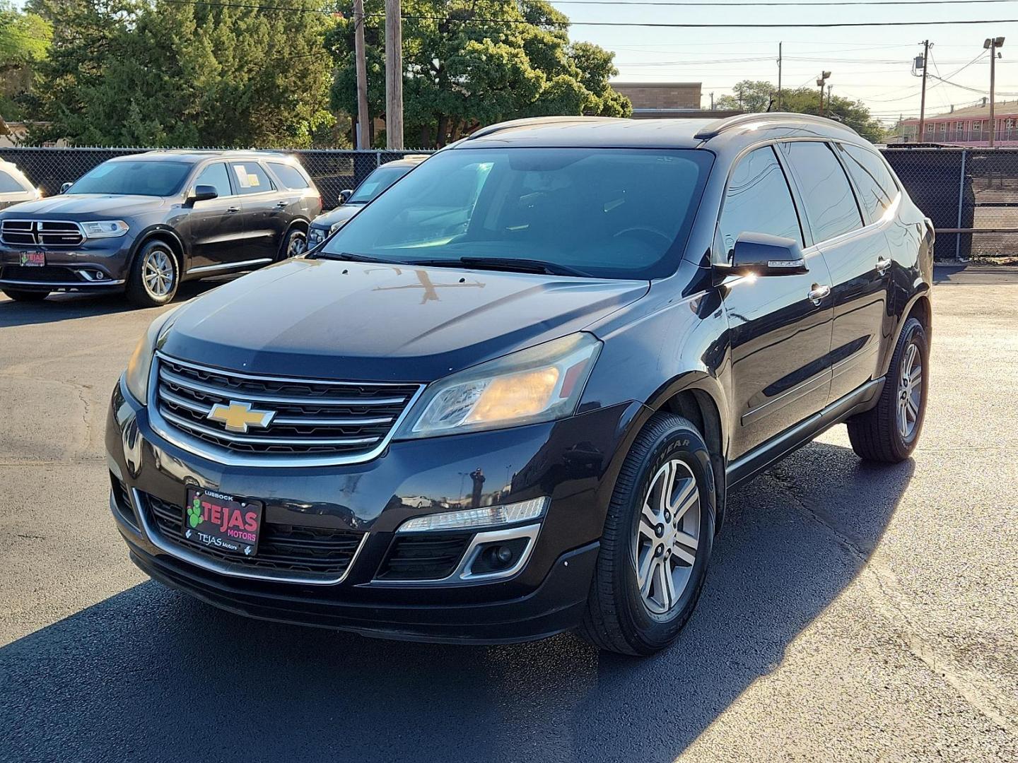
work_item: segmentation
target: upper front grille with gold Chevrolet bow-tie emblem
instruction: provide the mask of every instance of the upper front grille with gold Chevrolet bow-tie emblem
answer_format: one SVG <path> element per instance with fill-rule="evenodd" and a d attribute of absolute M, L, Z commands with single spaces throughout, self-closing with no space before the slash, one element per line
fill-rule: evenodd
<path fill-rule="evenodd" d="M 180 445 L 226 463 L 366 461 L 382 452 L 421 390 L 419 385 L 257 376 L 162 354 L 154 366 L 158 417 L 185 435 Z M 232 419 L 230 411 L 246 420 Z"/>

